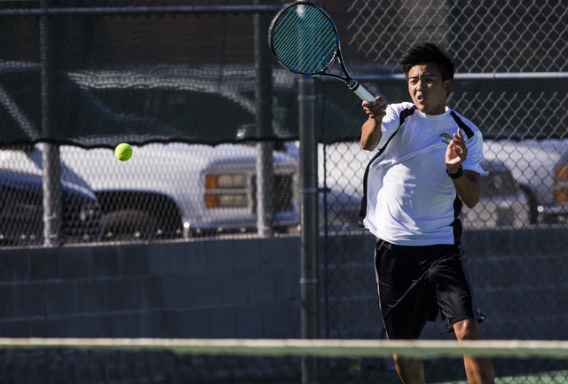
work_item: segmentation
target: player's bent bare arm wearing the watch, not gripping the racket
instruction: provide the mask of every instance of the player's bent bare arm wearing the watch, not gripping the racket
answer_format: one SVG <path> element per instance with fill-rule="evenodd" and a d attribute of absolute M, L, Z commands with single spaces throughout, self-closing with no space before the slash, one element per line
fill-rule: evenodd
<path fill-rule="evenodd" d="M 447 145 L 446 168 L 451 174 L 457 174 L 461 169 L 461 163 L 468 157 L 468 148 L 465 146 L 465 139 L 458 129 L 454 133 L 454 139 Z M 463 176 L 453 178 L 455 192 L 460 200 L 468 208 L 474 208 L 479 202 L 479 179 L 480 175 L 472 170 L 464 169 Z"/>

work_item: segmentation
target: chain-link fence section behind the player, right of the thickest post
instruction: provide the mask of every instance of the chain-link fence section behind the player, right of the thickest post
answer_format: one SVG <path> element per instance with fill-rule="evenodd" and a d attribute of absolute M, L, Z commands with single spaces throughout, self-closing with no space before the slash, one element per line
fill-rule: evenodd
<path fill-rule="evenodd" d="M 448 105 L 483 132 L 483 167 L 490 172 L 482 177 L 477 207 L 461 215 L 477 300 L 488 316 L 485 337 L 563 340 L 564 302 L 556 299 L 564 295 L 567 255 L 565 4 L 360 0 L 351 2 L 348 13 L 349 23 L 340 30 L 349 42 L 343 44 L 347 65 L 388 103 L 411 101 L 397 77 L 397 60 L 408 46 L 433 40 L 454 56 L 457 74 Z M 322 114 L 335 114 L 339 87 L 322 82 Z M 351 100 L 360 108 L 356 97 Z M 325 132 L 322 137 L 325 142 Z M 320 182 L 359 201 L 359 181 L 371 157 L 360 150 L 358 137 L 328 142 L 320 150 Z M 330 231 L 327 335 L 381 337 L 375 282 L 367 276 L 374 267 L 372 250 L 361 256 L 360 248 L 341 244 Z M 353 276 L 362 283 L 353 284 Z M 428 325 L 422 338 L 454 336 Z M 387 362 L 380 369 L 390 368 Z"/>

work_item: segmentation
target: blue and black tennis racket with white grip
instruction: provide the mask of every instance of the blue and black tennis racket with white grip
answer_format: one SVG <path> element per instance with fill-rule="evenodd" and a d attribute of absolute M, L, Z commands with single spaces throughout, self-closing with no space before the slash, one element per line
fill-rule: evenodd
<path fill-rule="evenodd" d="M 268 44 L 274 57 L 289 71 L 340 80 L 359 98 L 375 101 L 375 97 L 347 72 L 337 28 L 319 6 L 306 1 L 286 5 L 272 20 Z M 344 77 L 327 72 L 335 60 L 343 69 Z"/>

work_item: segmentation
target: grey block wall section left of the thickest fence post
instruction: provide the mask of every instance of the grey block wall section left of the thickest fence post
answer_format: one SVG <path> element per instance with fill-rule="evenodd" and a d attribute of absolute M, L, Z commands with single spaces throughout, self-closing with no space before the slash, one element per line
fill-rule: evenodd
<path fill-rule="evenodd" d="M 299 239 L 0 251 L 2 337 L 299 337 Z"/>

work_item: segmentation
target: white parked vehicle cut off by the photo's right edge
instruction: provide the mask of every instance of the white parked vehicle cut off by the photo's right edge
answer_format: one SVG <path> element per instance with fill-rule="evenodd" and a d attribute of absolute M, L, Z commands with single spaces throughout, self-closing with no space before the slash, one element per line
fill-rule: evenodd
<path fill-rule="evenodd" d="M 509 168 L 525 192 L 529 222 L 568 222 L 568 140 L 484 141 L 487 160 L 499 160 Z"/>

